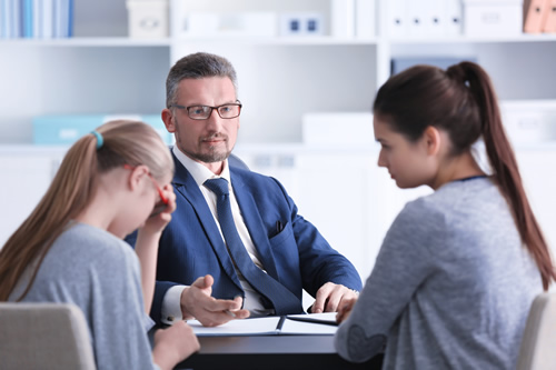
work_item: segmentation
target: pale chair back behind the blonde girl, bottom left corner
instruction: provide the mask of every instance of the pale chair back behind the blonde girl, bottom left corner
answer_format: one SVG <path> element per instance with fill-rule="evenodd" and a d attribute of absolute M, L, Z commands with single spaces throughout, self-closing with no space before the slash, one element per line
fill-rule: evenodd
<path fill-rule="evenodd" d="M 81 310 L 69 303 L 0 303 L 0 368 L 96 369 Z"/>

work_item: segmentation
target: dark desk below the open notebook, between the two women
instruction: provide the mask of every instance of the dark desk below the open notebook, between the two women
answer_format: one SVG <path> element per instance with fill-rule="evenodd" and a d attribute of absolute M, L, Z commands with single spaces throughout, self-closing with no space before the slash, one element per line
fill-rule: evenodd
<path fill-rule="evenodd" d="M 201 349 L 176 369 L 296 370 L 380 369 L 383 356 L 350 363 L 334 349 L 334 336 L 199 337 Z"/>

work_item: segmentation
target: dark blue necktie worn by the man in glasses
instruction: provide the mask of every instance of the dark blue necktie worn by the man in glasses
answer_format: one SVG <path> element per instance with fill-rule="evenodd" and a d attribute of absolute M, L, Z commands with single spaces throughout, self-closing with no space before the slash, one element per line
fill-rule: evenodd
<path fill-rule="evenodd" d="M 299 299 L 280 282 L 259 269 L 249 257 L 231 216 L 228 181 L 224 178 L 210 179 L 205 181 L 205 186 L 216 194 L 220 229 L 224 239 L 226 239 L 228 252 L 244 278 L 272 303 L 276 314 L 302 312 Z"/>

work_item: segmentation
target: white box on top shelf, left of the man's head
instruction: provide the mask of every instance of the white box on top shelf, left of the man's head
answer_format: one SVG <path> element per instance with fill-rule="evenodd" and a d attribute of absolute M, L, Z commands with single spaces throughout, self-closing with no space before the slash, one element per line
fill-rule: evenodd
<path fill-rule="evenodd" d="M 129 37 L 168 37 L 168 0 L 128 0 L 126 4 Z"/>

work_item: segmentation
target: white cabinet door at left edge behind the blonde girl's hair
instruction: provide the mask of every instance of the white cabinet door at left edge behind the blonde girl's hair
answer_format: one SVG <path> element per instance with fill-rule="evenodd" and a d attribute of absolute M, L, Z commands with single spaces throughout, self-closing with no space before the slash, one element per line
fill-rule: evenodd
<path fill-rule="evenodd" d="M 58 163 L 48 156 L 0 154 L 0 248 L 40 201 Z"/>

